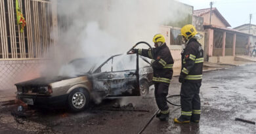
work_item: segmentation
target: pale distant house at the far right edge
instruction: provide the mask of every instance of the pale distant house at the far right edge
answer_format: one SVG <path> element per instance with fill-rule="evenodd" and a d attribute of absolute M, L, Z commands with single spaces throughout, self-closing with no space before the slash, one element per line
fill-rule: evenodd
<path fill-rule="evenodd" d="M 234 29 L 236 29 L 238 31 L 242 31 L 244 33 L 251 34 L 249 42 L 251 42 L 251 44 L 254 44 L 256 42 L 256 25 L 244 24 L 244 25 L 240 25 L 238 27 L 234 27 Z"/>

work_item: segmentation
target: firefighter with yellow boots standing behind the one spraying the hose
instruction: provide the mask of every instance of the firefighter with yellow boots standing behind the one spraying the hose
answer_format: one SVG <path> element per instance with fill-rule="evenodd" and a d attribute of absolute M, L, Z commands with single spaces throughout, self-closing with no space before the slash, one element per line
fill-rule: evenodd
<path fill-rule="evenodd" d="M 186 48 L 181 53 L 181 116 L 175 118 L 176 123 L 199 122 L 200 120 L 200 86 L 203 71 L 203 49 L 197 41 L 198 32 L 193 25 L 184 25 L 181 35 L 186 41 Z"/>

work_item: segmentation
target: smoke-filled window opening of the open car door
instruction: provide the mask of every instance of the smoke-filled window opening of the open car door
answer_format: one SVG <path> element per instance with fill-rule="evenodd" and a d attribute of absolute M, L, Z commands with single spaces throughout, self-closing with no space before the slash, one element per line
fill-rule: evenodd
<path fill-rule="evenodd" d="M 136 54 L 116 56 L 113 59 L 112 71 L 127 71 L 136 69 Z"/>

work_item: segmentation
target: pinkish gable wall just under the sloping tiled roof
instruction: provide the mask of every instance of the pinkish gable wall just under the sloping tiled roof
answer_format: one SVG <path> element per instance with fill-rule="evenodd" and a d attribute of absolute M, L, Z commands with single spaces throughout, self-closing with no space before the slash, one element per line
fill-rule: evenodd
<path fill-rule="evenodd" d="M 210 13 L 203 14 L 202 17 L 203 17 L 203 25 L 209 25 L 210 24 Z M 215 12 L 212 12 L 211 25 L 215 25 L 215 26 L 219 26 L 219 27 L 226 27 L 226 25 L 215 14 Z"/>

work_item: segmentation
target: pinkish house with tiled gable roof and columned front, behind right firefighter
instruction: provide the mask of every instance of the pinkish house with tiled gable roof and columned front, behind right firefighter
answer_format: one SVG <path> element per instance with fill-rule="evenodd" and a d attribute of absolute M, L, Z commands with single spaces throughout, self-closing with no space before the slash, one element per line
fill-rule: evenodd
<path fill-rule="evenodd" d="M 249 34 L 228 28 L 231 25 L 217 8 L 194 10 L 193 15 L 203 17 L 203 29 L 207 33 L 207 61 L 226 62 L 234 60 L 234 56 L 245 55 Z"/>

